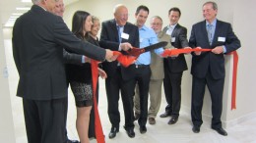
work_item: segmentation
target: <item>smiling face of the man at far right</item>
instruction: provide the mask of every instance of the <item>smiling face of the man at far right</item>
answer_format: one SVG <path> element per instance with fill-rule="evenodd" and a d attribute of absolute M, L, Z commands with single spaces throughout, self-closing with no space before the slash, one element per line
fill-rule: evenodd
<path fill-rule="evenodd" d="M 212 24 L 212 22 L 216 19 L 218 10 L 214 9 L 212 3 L 207 3 L 203 6 L 203 17 L 207 22 Z"/>

